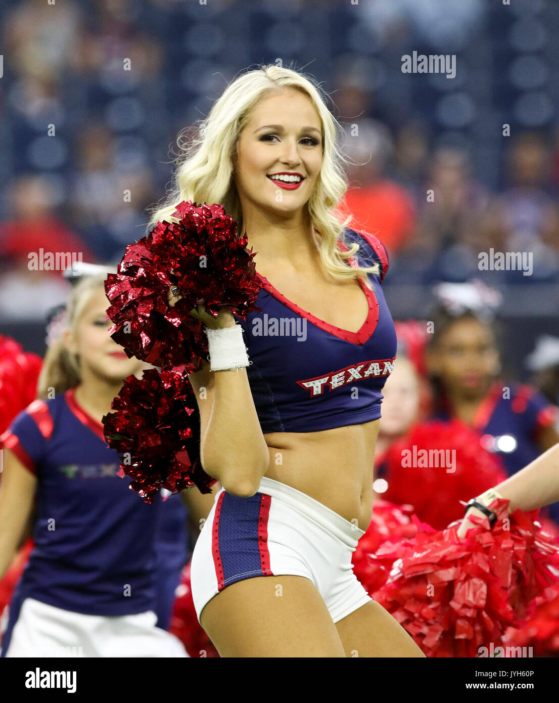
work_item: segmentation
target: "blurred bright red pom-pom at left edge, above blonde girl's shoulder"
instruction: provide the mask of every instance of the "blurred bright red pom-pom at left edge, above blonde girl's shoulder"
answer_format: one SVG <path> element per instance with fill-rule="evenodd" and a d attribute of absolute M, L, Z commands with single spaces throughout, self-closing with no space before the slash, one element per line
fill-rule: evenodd
<path fill-rule="evenodd" d="M 0 335 L 0 434 L 36 398 L 42 364 L 40 356 Z"/>

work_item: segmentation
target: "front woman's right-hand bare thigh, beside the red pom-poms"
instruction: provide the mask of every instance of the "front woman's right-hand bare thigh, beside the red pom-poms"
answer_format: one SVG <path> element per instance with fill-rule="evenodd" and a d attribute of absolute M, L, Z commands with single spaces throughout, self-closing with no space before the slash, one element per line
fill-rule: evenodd
<path fill-rule="evenodd" d="M 387 610 L 369 600 L 336 622 L 346 657 L 425 657 Z"/>

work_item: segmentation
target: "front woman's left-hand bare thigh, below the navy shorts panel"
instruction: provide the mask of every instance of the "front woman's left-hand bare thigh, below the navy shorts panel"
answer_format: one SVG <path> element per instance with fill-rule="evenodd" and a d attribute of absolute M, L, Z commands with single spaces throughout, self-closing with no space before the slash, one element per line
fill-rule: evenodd
<path fill-rule="evenodd" d="M 304 576 L 255 576 L 214 596 L 200 616 L 220 657 L 345 657 L 315 585 Z"/>

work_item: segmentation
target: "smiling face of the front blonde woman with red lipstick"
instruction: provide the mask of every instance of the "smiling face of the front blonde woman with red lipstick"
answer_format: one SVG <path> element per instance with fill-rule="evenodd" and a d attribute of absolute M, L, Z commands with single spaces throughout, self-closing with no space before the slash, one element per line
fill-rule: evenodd
<path fill-rule="evenodd" d="M 320 117 L 308 96 L 287 89 L 263 98 L 237 142 L 233 178 L 243 213 L 256 208 L 277 216 L 300 210 L 315 188 L 322 146 Z M 285 180 L 270 178 L 279 174 Z"/>

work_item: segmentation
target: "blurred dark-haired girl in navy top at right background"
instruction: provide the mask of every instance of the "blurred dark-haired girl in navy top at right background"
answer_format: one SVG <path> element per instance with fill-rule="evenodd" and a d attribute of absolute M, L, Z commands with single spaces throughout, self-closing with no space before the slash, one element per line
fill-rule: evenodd
<path fill-rule="evenodd" d="M 490 318 L 472 309 L 452 314 L 442 305 L 432 319 L 426 362 L 433 418 L 459 419 L 478 430 L 481 445 L 498 453 L 509 476 L 559 442 L 557 406 L 534 388 L 501 378 Z M 559 504 L 548 511 L 559 523 Z"/>

